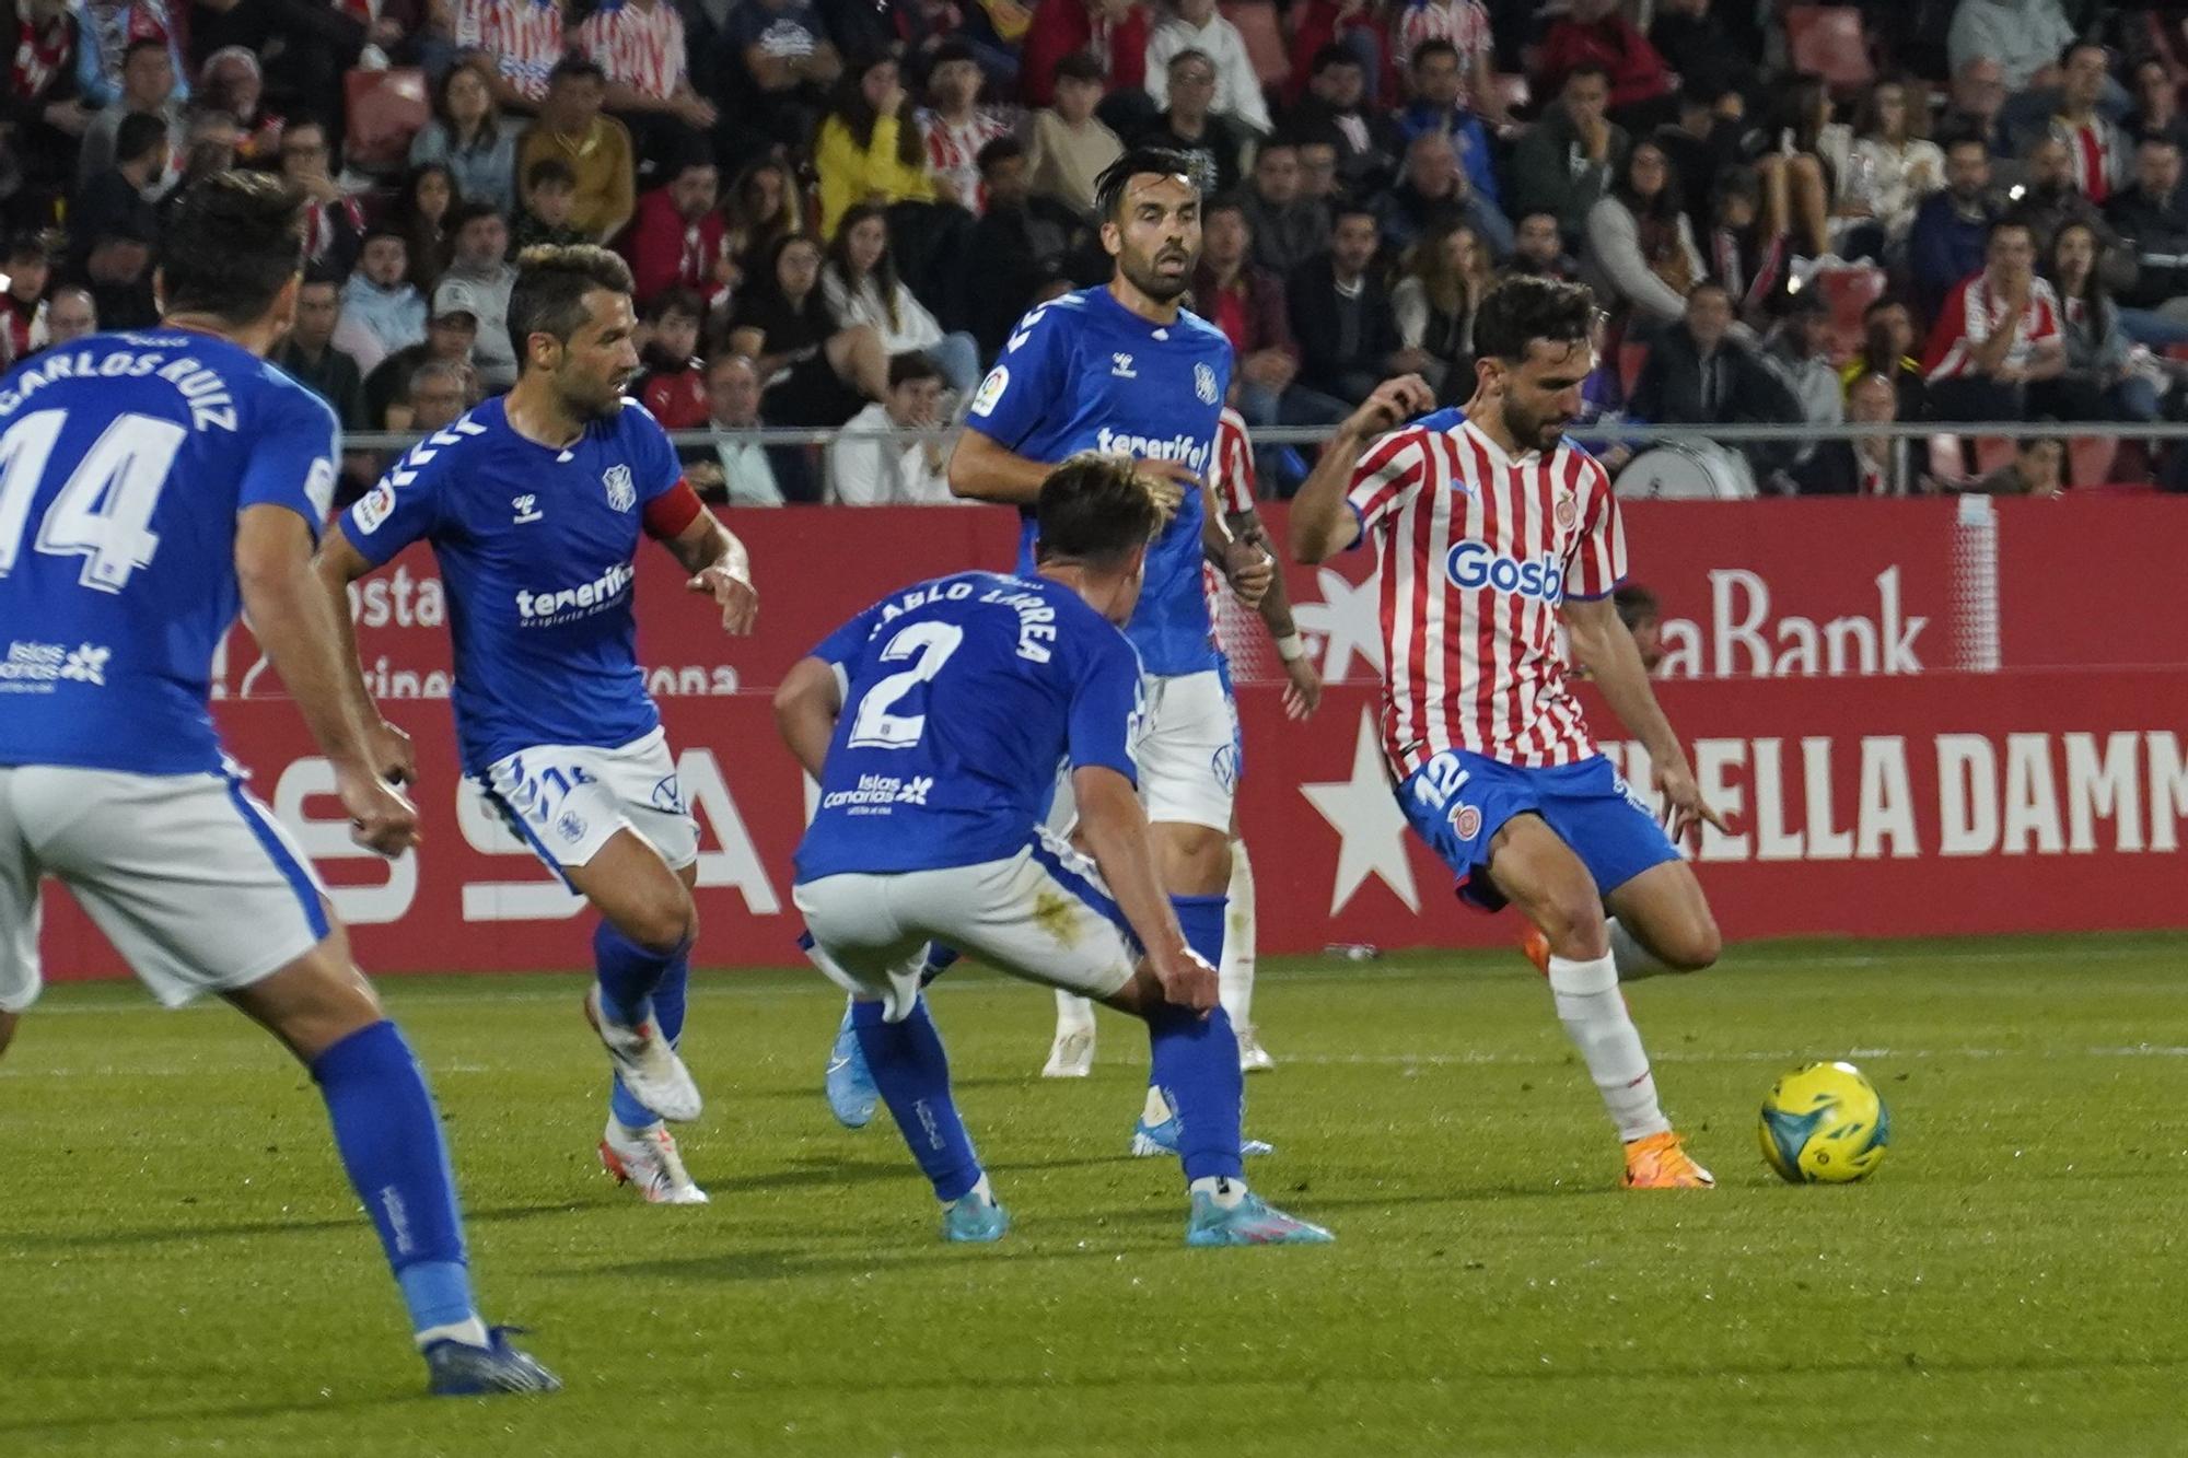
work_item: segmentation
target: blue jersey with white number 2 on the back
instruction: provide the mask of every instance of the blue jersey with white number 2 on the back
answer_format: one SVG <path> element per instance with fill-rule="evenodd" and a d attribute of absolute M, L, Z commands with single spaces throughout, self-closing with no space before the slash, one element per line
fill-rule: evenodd
<path fill-rule="evenodd" d="M 1079 593 L 967 571 L 908 587 L 831 633 L 842 718 L 799 880 L 1015 856 L 1057 768 L 1127 779 L 1140 659 Z"/>

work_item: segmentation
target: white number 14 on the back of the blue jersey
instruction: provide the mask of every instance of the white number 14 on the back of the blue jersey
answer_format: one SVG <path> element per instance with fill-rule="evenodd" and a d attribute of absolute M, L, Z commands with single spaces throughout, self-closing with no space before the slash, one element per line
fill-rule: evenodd
<path fill-rule="evenodd" d="M 66 423 L 66 409 L 35 409 L 0 436 L 0 578 L 15 569 L 31 499 Z M 188 436 L 188 427 L 173 420 L 116 416 L 46 508 L 37 549 L 85 558 L 79 580 L 118 593 L 160 549 L 151 512 Z"/>

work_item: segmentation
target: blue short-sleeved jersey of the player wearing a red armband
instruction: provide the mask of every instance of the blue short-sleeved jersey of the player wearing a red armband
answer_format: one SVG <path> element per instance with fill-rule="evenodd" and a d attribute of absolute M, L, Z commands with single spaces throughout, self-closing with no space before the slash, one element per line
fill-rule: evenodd
<path fill-rule="evenodd" d="M 615 749 L 661 722 L 639 672 L 635 558 L 645 506 L 680 479 L 637 401 L 558 451 L 519 436 L 492 398 L 344 512 L 372 565 L 433 545 L 466 773 L 540 744 Z"/>

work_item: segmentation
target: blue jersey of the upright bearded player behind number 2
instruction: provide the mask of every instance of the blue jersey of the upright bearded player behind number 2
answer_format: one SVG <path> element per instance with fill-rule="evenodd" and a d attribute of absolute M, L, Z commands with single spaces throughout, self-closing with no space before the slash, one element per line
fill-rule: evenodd
<path fill-rule="evenodd" d="M 1232 348 L 1208 320 L 1142 320 L 1109 289 L 1083 289 L 1028 313 L 980 383 L 965 420 L 1006 451 L 1061 462 L 1079 451 L 1175 460 L 1206 477 L 1230 390 Z M 1173 676 L 1217 666 L 1201 591 L 1201 493 L 1147 554 L 1147 587 L 1125 637 L 1147 672 Z M 1033 574 L 1033 521 L 1020 543 L 1020 576 Z"/>

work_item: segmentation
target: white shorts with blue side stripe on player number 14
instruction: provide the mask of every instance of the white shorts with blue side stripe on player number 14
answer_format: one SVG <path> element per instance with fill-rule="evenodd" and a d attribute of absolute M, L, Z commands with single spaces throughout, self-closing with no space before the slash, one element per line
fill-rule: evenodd
<path fill-rule="evenodd" d="M 311 860 L 241 775 L 0 766 L 0 1011 L 42 987 L 42 876 L 168 1007 L 280 972 L 330 930 Z"/>

